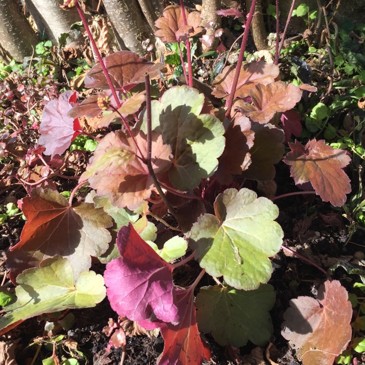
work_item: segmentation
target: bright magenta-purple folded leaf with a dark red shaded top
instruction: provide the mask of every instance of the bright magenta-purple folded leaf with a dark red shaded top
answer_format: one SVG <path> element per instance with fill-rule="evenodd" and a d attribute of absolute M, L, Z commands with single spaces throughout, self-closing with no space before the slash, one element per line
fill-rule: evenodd
<path fill-rule="evenodd" d="M 110 261 L 104 273 L 111 308 L 147 329 L 160 327 L 161 321 L 176 324 L 179 316 L 169 264 L 130 223 L 119 231 L 117 247 L 121 257 Z"/>

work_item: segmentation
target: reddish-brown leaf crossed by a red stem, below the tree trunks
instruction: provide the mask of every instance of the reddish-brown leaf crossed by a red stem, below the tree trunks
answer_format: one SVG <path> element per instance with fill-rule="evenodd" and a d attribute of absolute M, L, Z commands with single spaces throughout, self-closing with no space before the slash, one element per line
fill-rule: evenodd
<path fill-rule="evenodd" d="M 153 63 L 130 51 L 114 52 L 104 58 L 111 82 L 116 89 L 145 81 L 146 74 L 158 76 L 164 66 Z M 110 89 L 100 64 L 95 65 L 85 77 L 86 88 Z"/>

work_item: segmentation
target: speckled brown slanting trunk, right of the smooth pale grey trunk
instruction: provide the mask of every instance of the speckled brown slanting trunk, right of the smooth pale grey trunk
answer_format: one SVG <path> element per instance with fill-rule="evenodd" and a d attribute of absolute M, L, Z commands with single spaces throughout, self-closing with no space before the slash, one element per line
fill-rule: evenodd
<path fill-rule="evenodd" d="M 154 39 L 147 32 L 137 0 L 104 0 L 105 10 L 113 23 L 115 31 L 123 39 L 126 47 L 138 55 L 145 55 L 142 42 L 147 38 Z"/>

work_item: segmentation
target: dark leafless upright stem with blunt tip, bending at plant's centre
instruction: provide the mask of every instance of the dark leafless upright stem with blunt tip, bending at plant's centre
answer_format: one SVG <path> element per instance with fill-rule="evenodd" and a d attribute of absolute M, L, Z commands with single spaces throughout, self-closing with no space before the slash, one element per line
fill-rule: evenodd
<path fill-rule="evenodd" d="M 145 77 L 145 86 L 146 86 L 146 116 L 147 116 L 147 167 L 148 171 L 153 179 L 155 187 L 160 194 L 162 200 L 164 201 L 166 207 L 170 211 L 170 213 L 178 220 L 178 216 L 175 212 L 175 209 L 172 207 L 170 202 L 167 200 L 160 183 L 158 182 L 155 172 L 153 171 L 152 166 L 152 117 L 151 117 L 151 90 L 149 85 L 149 76 L 146 75 Z"/>

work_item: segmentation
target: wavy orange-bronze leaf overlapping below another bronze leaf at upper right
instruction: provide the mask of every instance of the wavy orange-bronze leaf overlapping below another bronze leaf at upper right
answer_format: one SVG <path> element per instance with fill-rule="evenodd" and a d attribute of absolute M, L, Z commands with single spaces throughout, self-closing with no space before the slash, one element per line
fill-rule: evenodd
<path fill-rule="evenodd" d="M 250 91 L 253 104 L 240 101 L 240 111 L 254 122 L 266 124 L 276 112 L 290 110 L 302 97 L 302 91 L 295 85 L 277 81 L 268 85 L 257 84 Z"/>

